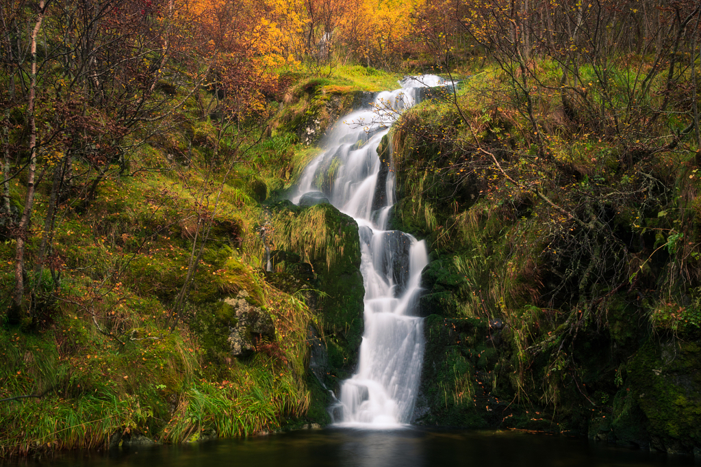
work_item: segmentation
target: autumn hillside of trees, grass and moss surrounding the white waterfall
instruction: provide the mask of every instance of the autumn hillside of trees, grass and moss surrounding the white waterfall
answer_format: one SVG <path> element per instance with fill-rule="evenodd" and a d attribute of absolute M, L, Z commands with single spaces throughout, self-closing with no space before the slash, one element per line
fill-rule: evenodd
<path fill-rule="evenodd" d="M 418 423 L 700 449 L 698 2 L 142 3 L 0 5 L 0 456 L 327 422 L 357 225 L 281 200 L 397 71 Z"/>

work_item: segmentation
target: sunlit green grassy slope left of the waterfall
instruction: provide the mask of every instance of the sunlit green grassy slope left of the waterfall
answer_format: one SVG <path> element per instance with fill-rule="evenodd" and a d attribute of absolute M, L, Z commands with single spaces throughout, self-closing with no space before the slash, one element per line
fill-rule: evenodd
<path fill-rule="evenodd" d="M 290 92 L 315 109 L 345 112 L 334 106 L 353 99 L 353 92 L 329 99 L 323 87 L 308 94 L 318 78 L 298 79 Z M 338 83 L 369 85 L 325 79 Z M 257 141 L 243 128 L 201 120 L 208 99 L 208 92 L 185 99 L 179 123 L 137 146 L 130 171 L 105 176 L 90 201 L 56 205 L 53 250 L 40 276 L 32 270 L 41 232 L 30 237 L 30 313 L 18 325 L 4 316 L 0 331 L 0 399 L 9 399 L 0 403 L 2 455 L 327 420 L 327 391 L 308 370 L 308 332 L 317 329 L 328 347 L 325 384 L 334 387 L 353 368 L 362 333 L 357 226 L 329 205 L 264 204 L 290 187 L 315 148 L 298 144 L 294 127 Z M 10 186 L 13 202 L 21 199 L 22 183 Z M 50 195 L 50 186 L 39 187 L 36 219 L 48 216 Z M 277 252 L 267 273 L 266 246 Z M 5 237 L 4 258 L 14 247 Z M 11 291 L 11 270 L 0 281 Z M 253 351 L 236 356 L 230 333 L 238 318 L 226 303 L 240 293 L 271 316 L 274 331 L 247 334 Z"/>

